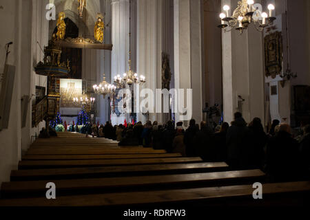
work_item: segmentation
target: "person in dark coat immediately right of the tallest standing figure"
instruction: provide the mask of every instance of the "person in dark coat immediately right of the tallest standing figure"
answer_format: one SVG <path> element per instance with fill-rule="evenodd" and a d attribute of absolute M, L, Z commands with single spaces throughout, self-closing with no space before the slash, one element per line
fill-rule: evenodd
<path fill-rule="evenodd" d="M 254 118 L 249 124 L 249 129 L 252 137 L 251 145 L 254 147 L 252 166 L 254 168 L 262 168 L 265 159 L 264 147 L 267 144 L 267 135 L 260 118 Z"/>

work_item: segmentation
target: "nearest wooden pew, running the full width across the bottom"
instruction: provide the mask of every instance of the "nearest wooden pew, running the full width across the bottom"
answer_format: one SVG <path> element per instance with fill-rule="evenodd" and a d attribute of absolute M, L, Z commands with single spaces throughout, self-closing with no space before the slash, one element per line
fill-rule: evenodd
<path fill-rule="evenodd" d="M 252 184 L 211 188 L 189 188 L 147 192 L 116 192 L 76 195 L 56 199 L 0 199 L 0 206 L 105 206 L 132 208 L 154 205 L 205 206 L 291 206 L 309 205 L 310 181 L 263 184 L 263 199 L 253 199 Z M 169 207 L 169 206 L 168 206 Z M 199 206 L 198 206 L 199 207 Z M 201 207 L 201 206 L 200 206 Z"/>

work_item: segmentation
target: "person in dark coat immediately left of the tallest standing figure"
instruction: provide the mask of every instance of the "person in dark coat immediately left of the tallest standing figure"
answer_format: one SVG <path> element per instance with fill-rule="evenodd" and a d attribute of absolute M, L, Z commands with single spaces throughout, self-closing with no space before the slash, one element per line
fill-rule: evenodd
<path fill-rule="evenodd" d="M 216 146 L 216 161 L 227 161 L 227 146 L 226 146 L 226 134 L 229 129 L 229 124 L 223 122 L 220 126 L 220 131 L 214 134 L 214 144 Z"/>

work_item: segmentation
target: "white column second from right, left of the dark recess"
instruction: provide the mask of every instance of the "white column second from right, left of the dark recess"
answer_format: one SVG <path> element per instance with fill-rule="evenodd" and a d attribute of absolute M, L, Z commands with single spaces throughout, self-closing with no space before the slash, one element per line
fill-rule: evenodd
<path fill-rule="evenodd" d="M 192 106 L 187 108 L 192 108 L 192 118 L 197 122 L 203 119 L 200 9 L 200 0 L 174 0 L 174 85 L 185 89 L 185 97 L 186 89 L 192 89 Z M 175 120 L 180 120 L 179 113 Z"/>

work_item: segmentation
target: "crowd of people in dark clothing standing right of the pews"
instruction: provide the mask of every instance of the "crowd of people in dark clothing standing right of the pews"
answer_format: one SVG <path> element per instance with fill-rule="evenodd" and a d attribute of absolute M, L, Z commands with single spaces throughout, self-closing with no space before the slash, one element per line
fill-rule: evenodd
<path fill-rule="evenodd" d="M 260 118 L 247 124 L 237 112 L 231 126 L 223 122 L 215 131 L 206 122 L 199 125 L 192 119 L 187 129 L 183 122 L 174 126 L 172 121 L 163 125 L 137 122 L 126 127 L 107 122 L 105 126 L 92 126 L 90 132 L 117 140 L 120 146 L 143 145 L 183 157 L 198 156 L 205 162 L 227 162 L 233 170 L 260 168 L 277 181 L 310 175 L 309 125 L 302 125 L 293 137 L 289 124 L 274 120 L 269 133 L 265 133 Z"/>

